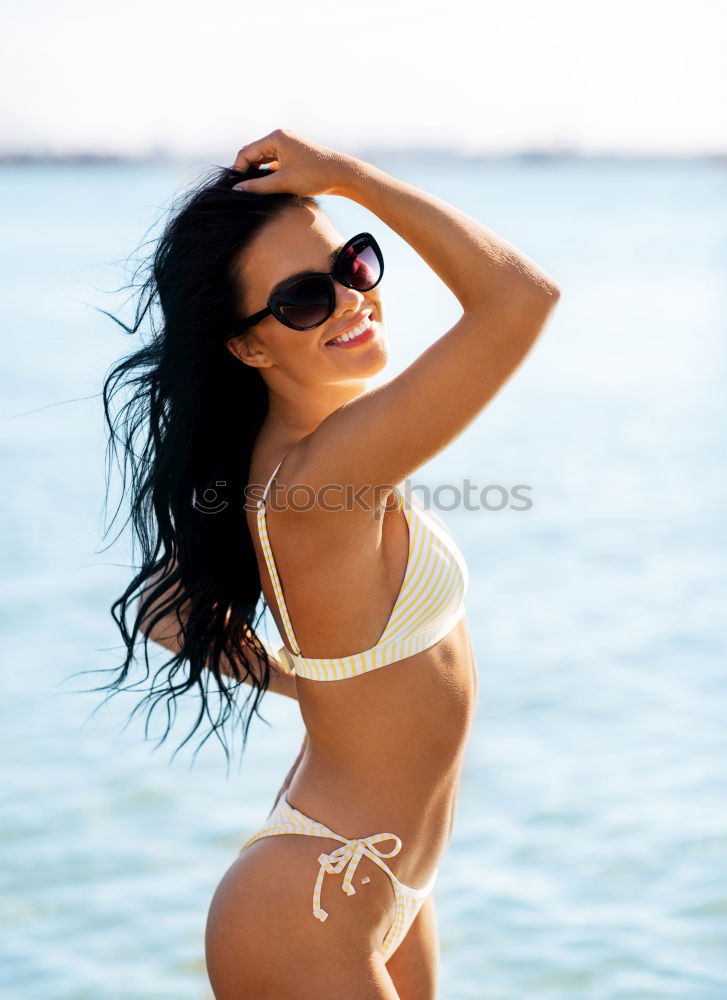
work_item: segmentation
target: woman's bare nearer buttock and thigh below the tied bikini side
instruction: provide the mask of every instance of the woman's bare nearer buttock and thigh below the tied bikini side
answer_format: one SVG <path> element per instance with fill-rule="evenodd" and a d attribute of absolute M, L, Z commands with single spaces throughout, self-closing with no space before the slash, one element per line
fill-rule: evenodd
<path fill-rule="evenodd" d="M 341 875 L 326 875 L 328 919 L 313 915 L 318 855 L 334 846 L 297 834 L 265 837 L 230 866 L 205 934 L 216 1000 L 399 1000 L 376 950 L 394 913 L 391 883 L 377 865 L 361 859 L 352 896 L 341 891 Z"/>

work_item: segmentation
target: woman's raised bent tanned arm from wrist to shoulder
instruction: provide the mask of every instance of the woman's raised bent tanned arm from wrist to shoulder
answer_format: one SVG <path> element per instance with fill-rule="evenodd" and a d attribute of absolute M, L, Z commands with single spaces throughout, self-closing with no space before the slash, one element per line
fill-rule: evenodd
<path fill-rule="evenodd" d="M 299 443 L 286 483 L 396 484 L 452 441 L 527 355 L 560 291 L 533 260 L 435 195 L 352 157 L 329 193 L 358 202 L 429 264 L 463 309 L 400 375 Z"/>

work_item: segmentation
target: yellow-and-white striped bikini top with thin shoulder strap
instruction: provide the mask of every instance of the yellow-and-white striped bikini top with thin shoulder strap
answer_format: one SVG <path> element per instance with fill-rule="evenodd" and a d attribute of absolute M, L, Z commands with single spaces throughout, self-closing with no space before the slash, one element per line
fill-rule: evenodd
<path fill-rule="evenodd" d="M 469 574 L 464 556 L 454 538 L 412 495 L 407 508 L 401 490 L 396 487 L 399 507 L 409 526 L 409 557 L 401 590 L 379 641 L 370 649 L 349 656 L 303 656 L 285 606 L 283 588 L 275 568 L 265 524 L 265 502 L 270 484 L 283 463 L 280 460 L 258 500 L 257 525 L 265 562 L 278 602 L 280 617 L 290 649 L 277 652 L 285 673 L 294 673 L 317 681 L 342 680 L 376 670 L 433 646 L 457 624 L 465 613 L 464 597 Z"/>

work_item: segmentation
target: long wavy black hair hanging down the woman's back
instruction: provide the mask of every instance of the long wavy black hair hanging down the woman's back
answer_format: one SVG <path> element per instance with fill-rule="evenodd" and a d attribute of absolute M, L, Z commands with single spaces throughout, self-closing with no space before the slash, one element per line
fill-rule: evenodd
<path fill-rule="evenodd" d="M 155 670 L 131 717 L 148 707 L 148 736 L 154 709 L 164 702 L 161 744 L 176 717 L 176 699 L 196 688 L 199 711 L 175 754 L 207 719 L 211 728 L 197 750 L 214 733 L 228 764 L 225 723 L 231 715 L 239 718 L 244 751 L 271 670 L 256 632 L 265 602 L 256 616 L 262 590 L 244 510 L 250 458 L 268 395 L 259 371 L 225 346 L 243 315 L 237 265 L 253 237 L 280 212 L 290 206 L 320 207 L 307 196 L 231 190 L 240 180 L 265 174 L 256 167 L 244 172 L 215 167 L 180 196 L 153 251 L 125 286 L 138 292 L 133 325 L 101 310 L 128 334 L 142 334 L 142 346 L 112 366 L 102 391 L 109 432 L 105 509 L 115 457 L 122 473 L 119 506 L 127 493 L 130 504 L 122 530 L 130 520 L 139 564 L 111 605 L 126 647 L 124 661 L 111 668 L 112 681 L 94 690 L 108 691 L 107 700 L 144 684 L 150 677 L 148 633 L 162 618 L 176 615 L 180 650 Z M 122 402 L 112 415 L 119 393 Z M 118 508 L 111 524 L 117 514 Z M 127 683 L 139 639 L 145 673 Z M 221 670 L 223 656 L 234 677 Z M 246 679 L 251 687 L 244 708 L 252 699 L 247 715 L 235 698 Z"/>

